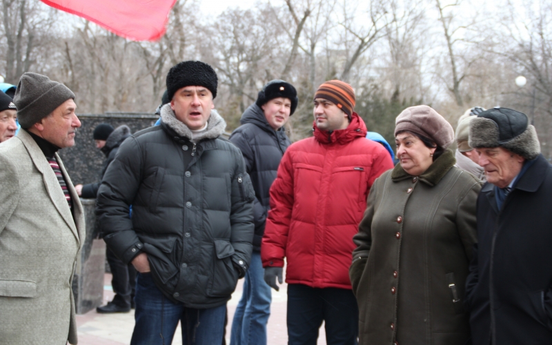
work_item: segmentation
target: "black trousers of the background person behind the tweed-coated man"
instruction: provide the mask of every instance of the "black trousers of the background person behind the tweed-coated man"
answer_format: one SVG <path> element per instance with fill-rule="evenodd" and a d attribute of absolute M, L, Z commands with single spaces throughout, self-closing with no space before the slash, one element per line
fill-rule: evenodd
<path fill-rule="evenodd" d="M 111 286 L 115 297 L 113 303 L 122 308 L 130 308 L 136 289 L 136 268 L 125 264 L 108 248 L 106 250 L 109 267 L 111 268 Z"/>

